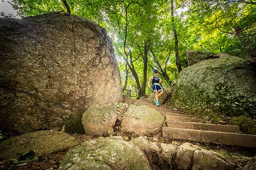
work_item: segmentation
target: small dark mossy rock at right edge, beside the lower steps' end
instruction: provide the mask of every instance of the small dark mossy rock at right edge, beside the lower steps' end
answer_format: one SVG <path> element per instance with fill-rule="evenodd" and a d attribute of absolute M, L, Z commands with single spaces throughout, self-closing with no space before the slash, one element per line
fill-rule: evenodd
<path fill-rule="evenodd" d="M 246 134 L 256 135 L 256 120 L 248 116 L 233 117 L 229 124 L 239 126 L 241 131 Z"/>

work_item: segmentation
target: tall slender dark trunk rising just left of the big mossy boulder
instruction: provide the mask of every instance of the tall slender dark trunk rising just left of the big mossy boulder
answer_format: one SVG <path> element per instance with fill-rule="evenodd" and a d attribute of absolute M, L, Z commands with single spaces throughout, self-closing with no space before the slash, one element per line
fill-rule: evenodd
<path fill-rule="evenodd" d="M 179 41 L 178 41 L 178 36 L 175 28 L 175 23 L 174 23 L 174 14 L 173 14 L 173 0 L 171 0 L 171 13 L 172 13 L 172 30 L 175 38 L 175 57 L 176 57 L 176 65 L 178 68 L 178 72 L 180 73 L 181 65 L 180 65 L 180 55 L 179 55 Z"/>

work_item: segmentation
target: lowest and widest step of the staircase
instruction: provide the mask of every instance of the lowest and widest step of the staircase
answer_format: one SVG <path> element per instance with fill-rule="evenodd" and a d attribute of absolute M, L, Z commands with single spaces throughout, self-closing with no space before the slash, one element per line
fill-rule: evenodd
<path fill-rule="evenodd" d="M 165 138 L 256 148 L 256 135 L 162 127 Z"/>

